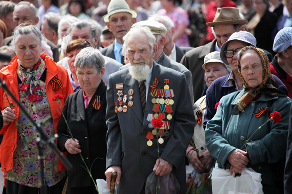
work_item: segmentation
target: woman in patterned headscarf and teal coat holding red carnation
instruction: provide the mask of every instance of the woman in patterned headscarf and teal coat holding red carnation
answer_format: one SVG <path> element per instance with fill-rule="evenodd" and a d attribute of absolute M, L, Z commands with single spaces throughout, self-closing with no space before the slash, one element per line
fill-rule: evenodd
<path fill-rule="evenodd" d="M 273 168 L 286 156 L 291 99 L 277 88 L 269 59 L 261 49 L 244 47 L 238 54 L 238 72 L 244 90 L 221 98 L 215 116 L 207 123 L 207 148 L 219 168 L 233 174 L 251 167 L 262 174 L 265 194 L 284 193 L 273 179 Z M 275 111 L 282 120 L 269 122 L 252 135 Z"/>

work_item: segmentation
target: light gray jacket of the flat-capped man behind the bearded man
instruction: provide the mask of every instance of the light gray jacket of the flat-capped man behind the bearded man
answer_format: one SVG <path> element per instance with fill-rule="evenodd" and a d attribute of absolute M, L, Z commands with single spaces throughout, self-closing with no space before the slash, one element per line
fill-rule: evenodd
<path fill-rule="evenodd" d="M 178 72 L 180 72 L 180 73 L 185 75 L 186 83 L 188 85 L 188 89 L 189 89 L 190 95 L 191 95 L 192 104 L 194 104 L 193 83 L 192 83 L 192 74 L 191 74 L 191 72 L 188 69 L 186 69 L 186 67 L 181 65 L 180 63 L 177 63 L 177 62 L 173 61 L 172 59 L 170 59 L 169 57 L 167 57 L 164 53 L 162 53 L 162 55 L 164 55 L 163 56 L 164 60 L 159 65 L 162 65 L 163 67 L 167 67 L 167 68 L 176 70 L 176 71 L 178 71 Z M 128 63 L 128 64 L 124 65 L 123 67 L 121 67 L 120 70 L 128 69 L 129 67 L 131 67 L 130 63 Z"/>

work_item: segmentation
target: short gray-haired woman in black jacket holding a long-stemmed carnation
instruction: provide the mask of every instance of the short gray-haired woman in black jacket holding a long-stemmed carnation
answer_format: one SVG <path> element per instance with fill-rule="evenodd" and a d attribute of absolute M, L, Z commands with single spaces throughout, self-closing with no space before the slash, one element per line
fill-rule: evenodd
<path fill-rule="evenodd" d="M 84 163 L 78 153 L 82 154 L 88 167 L 93 165 L 91 173 L 94 180 L 106 178 L 106 160 L 97 159 L 105 159 L 107 153 L 107 87 L 102 80 L 104 63 L 103 55 L 92 47 L 84 48 L 77 54 L 74 64 L 82 90 L 69 95 L 63 108 L 75 141 L 68 137 L 69 128 L 63 118 L 57 127 L 58 148 L 69 152 L 67 159 L 73 164 L 73 169 L 68 172 L 71 194 L 97 194 L 89 174 L 81 167 Z"/>

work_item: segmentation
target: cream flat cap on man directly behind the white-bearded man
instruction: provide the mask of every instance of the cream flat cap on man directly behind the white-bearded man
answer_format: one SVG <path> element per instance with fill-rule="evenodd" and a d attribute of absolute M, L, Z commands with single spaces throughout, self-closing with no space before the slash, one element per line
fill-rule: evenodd
<path fill-rule="evenodd" d="M 167 31 L 166 27 L 162 23 L 155 20 L 139 21 L 137 23 L 134 23 L 132 25 L 132 28 L 136 26 L 146 26 L 150 28 L 150 31 L 152 32 L 152 34 L 160 34 L 161 36 L 165 36 L 166 31 Z"/>

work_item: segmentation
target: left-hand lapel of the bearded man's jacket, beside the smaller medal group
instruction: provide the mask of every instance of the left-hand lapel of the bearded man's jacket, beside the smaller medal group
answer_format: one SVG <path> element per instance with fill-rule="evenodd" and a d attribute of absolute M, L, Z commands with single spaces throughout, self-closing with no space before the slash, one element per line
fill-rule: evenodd
<path fill-rule="evenodd" d="M 135 80 L 134 78 L 132 78 L 132 76 L 128 73 L 126 80 L 124 82 L 124 85 L 125 85 L 124 90 L 123 90 L 124 95 L 127 95 L 129 97 L 128 91 L 130 89 L 134 90 L 133 100 L 132 100 L 133 106 L 131 107 L 128 105 L 127 106 L 128 108 L 133 109 L 133 111 L 135 112 L 135 114 L 137 115 L 141 123 L 143 123 L 143 113 L 142 113 L 140 93 L 139 93 L 139 82 Z"/>

